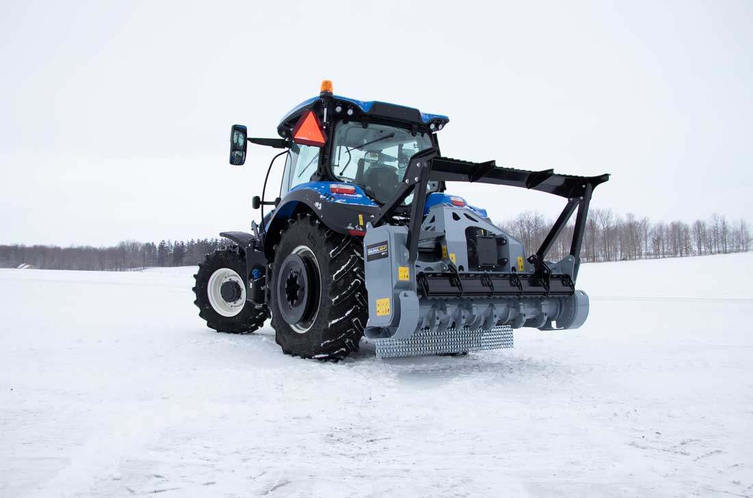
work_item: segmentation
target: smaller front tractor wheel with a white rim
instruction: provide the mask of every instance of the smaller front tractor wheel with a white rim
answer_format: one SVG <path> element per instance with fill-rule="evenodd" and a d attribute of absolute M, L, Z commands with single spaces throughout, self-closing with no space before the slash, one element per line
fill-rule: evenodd
<path fill-rule="evenodd" d="M 206 326 L 231 334 L 252 333 L 264 325 L 269 316 L 267 306 L 256 308 L 245 300 L 245 253 L 237 245 L 222 247 L 199 263 L 194 278 L 194 304 Z"/>

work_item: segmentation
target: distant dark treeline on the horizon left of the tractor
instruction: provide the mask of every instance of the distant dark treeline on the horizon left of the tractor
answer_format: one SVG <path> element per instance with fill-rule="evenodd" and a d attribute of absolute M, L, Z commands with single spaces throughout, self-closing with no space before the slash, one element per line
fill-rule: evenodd
<path fill-rule="evenodd" d="M 123 272 L 151 266 L 189 266 L 227 244 L 231 242 L 225 238 L 200 238 L 159 244 L 124 241 L 109 247 L 0 245 L 0 268 L 17 268 L 26 263 L 41 269 Z"/>

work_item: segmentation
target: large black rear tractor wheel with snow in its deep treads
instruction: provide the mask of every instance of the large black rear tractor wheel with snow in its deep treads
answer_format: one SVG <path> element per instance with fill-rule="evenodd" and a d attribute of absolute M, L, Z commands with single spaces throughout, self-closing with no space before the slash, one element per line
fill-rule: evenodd
<path fill-rule="evenodd" d="M 312 214 L 288 222 L 270 282 L 272 326 L 285 354 L 340 360 L 358 351 L 368 318 L 362 247 L 359 239 L 333 232 Z M 298 298 L 300 310 L 294 309 Z"/>

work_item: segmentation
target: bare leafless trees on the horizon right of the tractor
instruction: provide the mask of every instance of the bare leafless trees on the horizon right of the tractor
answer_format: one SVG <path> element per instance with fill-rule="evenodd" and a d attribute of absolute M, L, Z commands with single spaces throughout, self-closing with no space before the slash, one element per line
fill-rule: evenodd
<path fill-rule="evenodd" d="M 535 252 L 553 225 L 544 215 L 526 211 L 497 223 Z M 559 260 L 570 252 L 575 215 L 552 247 L 548 260 Z M 581 260 L 621 261 L 649 258 L 700 256 L 749 251 L 750 226 L 745 220 L 730 222 L 721 214 L 708 220 L 651 222 L 634 214 L 622 217 L 611 209 L 592 208 L 586 221 Z"/>

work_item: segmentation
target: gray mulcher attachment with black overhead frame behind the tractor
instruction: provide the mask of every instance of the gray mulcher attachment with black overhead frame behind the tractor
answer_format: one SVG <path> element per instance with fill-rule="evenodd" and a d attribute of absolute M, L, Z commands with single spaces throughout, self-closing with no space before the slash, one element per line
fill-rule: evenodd
<path fill-rule="evenodd" d="M 481 331 L 478 347 L 470 348 L 481 349 L 483 332 L 491 334 L 495 327 L 576 329 L 585 322 L 589 300 L 575 289 L 575 280 L 590 194 L 607 175 L 581 178 L 551 171 L 523 172 L 497 168 L 493 162 L 442 158 L 434 150 L 416 154 L 410 169 L 413 174 L 406 178 L 413 181 L 405 185 L 405 192 L 420 191 L 427 181 L 452 176 L 543 190 L 566 196 L 568 203 L 544 244 L 528 258 L 520 241 L 468 208 L 434 205 L 420 225 L 419 217 L 408 226 L 369 224 L 364 237 L 367 337 L 408 340 L 419 331 L 430 336 L 448 330 Z M 414 210 L 422 210 L 420 200 L 413 202 Z M 579 211 L 570 254 L 556 263 L 545 261 L 575 208 Z"/>

